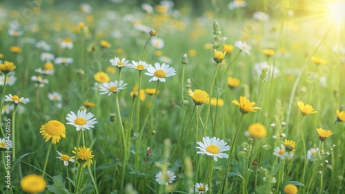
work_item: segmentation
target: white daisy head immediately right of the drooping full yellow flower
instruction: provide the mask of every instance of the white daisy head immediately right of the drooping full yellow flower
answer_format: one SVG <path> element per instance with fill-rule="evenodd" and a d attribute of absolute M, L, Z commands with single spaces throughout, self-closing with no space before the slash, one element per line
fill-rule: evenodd
<path fill-rule="evenodd" d="M 80 129 L 85 131 L 85 129 L 90 130 L 91 128 L 95 127 L 94 125 L 97 123 L 96 118 L 92 118 L 94 115 L 92 113 L 86 114 L 86 110 L 79 110 L 77 115 L 70 111 L 70 114 L 67 114 L 66 120 L 67 124 L 73 125 L 77 128 L 77 131 Z"/>

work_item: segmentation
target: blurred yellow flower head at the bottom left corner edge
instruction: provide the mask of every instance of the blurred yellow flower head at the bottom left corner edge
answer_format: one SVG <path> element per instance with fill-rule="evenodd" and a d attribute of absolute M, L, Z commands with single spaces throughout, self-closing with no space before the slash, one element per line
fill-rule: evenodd
<path fill-rule="evenodd" d="M 21 188 L 27 193 L 39 193 L 46 188 L 46 181 L 41 175 L 26 175 L 21 179 Z"/>

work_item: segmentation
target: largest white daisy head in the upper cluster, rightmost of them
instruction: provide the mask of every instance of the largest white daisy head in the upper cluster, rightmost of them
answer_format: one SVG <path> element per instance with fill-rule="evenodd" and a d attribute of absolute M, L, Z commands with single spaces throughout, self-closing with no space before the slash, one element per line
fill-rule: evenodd
<path fill-rule="evenodd" d="M 148 65 L 148 72 L 146 72 L 145 74 L 148 76 L 152 76 L 152 78 L 148 80 L 149 82 L 151 82 L 152 80 L 165 82 L 166 77 L 175 76 L 176 71 L 174 67 L 170 67 L 170 65 L 167 65 L 166 63 L 163 63 L 161 65 L 159 63 L 155 63 L 155 67 L 153 67 L 152 65 Z"/>

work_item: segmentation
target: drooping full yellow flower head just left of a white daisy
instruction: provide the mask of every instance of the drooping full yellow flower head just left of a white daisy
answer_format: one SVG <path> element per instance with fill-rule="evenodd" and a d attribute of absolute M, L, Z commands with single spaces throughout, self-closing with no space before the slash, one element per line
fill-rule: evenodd
<path fill-rule="evenodd" d="M 39 133 L 42 134 L 43 139 L 46 139 L 46 142 L 51 138 L 52 144 L 56 144 L 60 142 L 61 137 L 66 138 L 66 127 L 62 122 L 50 120 L 41 126 Z"/>

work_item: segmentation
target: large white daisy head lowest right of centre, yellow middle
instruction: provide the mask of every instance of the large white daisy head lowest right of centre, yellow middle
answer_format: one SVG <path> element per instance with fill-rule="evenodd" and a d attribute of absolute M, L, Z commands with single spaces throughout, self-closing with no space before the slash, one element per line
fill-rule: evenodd
<path fill-rule="evenodd" d="M 229 158 L 229 155 L 226 153 L 222 153 L 223 151 L 230 150 L 230 146 L 226 145 L 224 140 L 220 140 L 219 138 L 213 137 L 210 138 L 208 136 L 202 138 L 203 142 L 197 142 L 199 144 L 197 153 L 201 153 L 202 155 L 210 155 L 213 156 L 215 162 L 217 162 L 218 158 Z"/>

